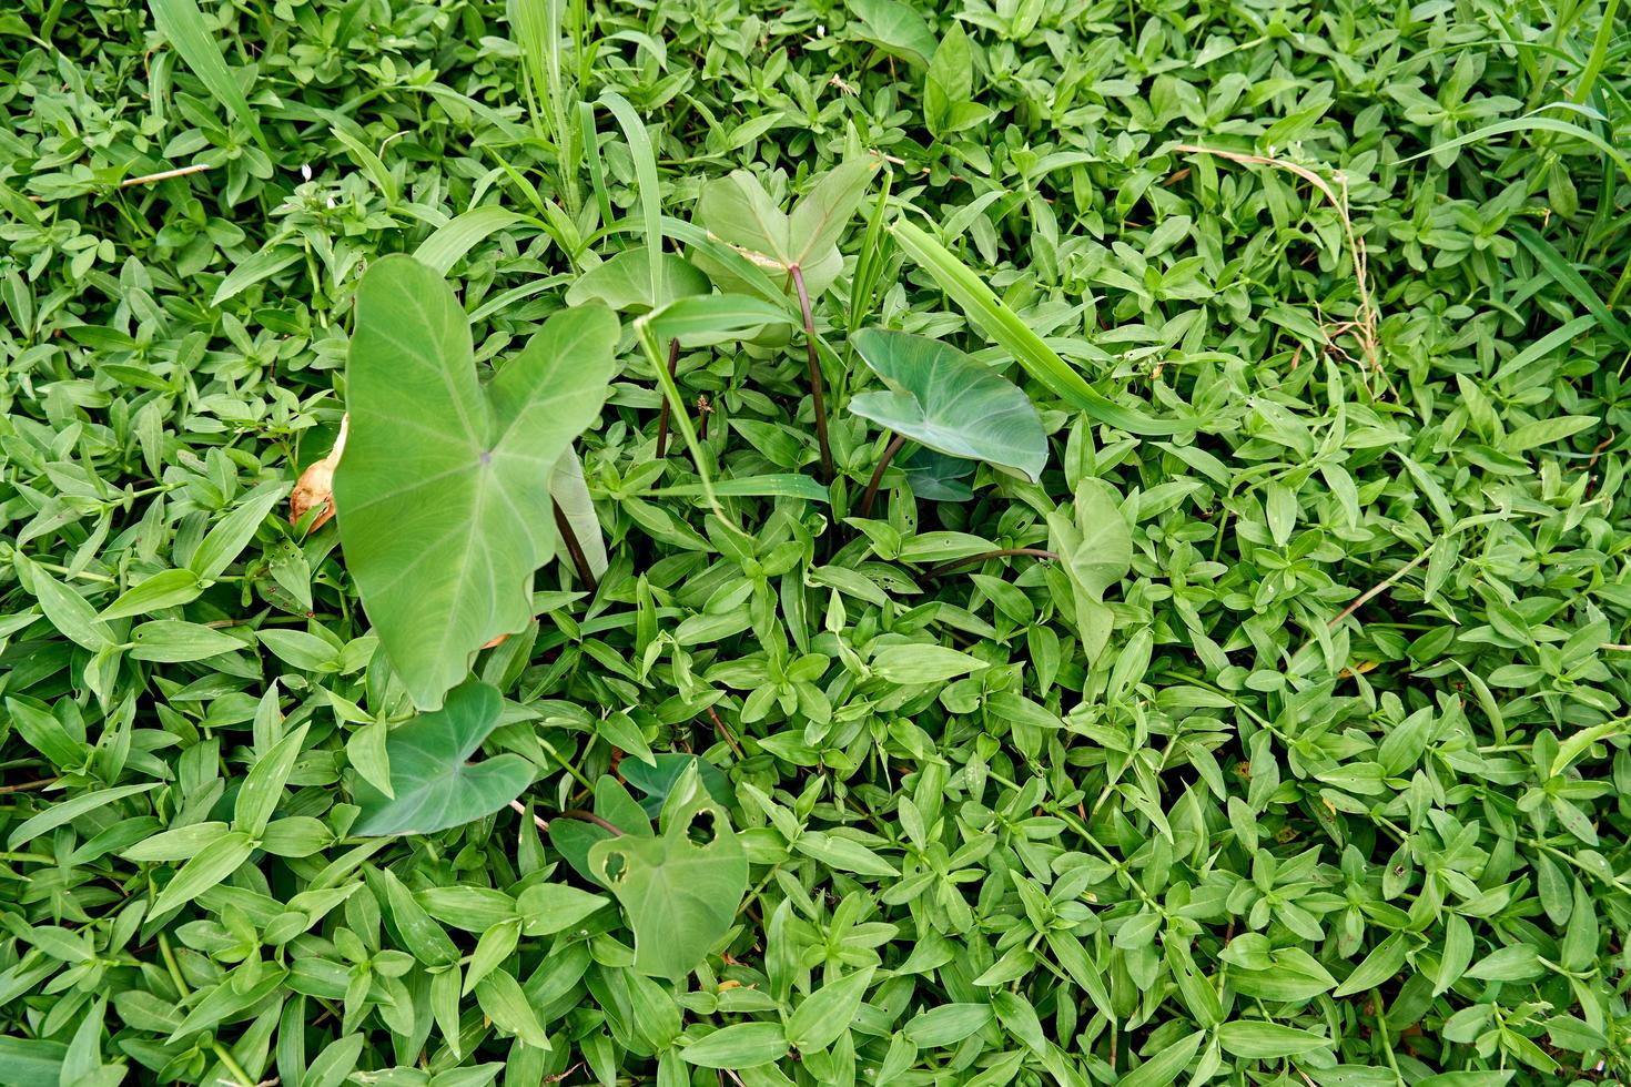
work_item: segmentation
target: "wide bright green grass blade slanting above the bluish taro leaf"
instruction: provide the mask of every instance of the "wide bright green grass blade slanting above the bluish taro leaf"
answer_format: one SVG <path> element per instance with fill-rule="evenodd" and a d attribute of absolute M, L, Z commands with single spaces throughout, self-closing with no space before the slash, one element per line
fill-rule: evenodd
<path fill-rule="evenodd" d="M 1080 407 L 1090 419 L 1119 427 L 1129 433 L 1169 435 L 1191 433 L 1199 429 L 1194 422 L 1178 422 L 1168 419 L 1151 419 L 1114 403 L 1076 373 L 1059 352 L 1049 347 L 1041 336 L 1019 319 L 1008 305 L 992 293 L 974 271 L 959 261 L 946 246 L 939 244 L 928 231 L 913 227 L 904 218 L 897 218 L 889 231 L 913 261 L 935 277 L 935 282 L 951 295 L 962 311 L 972 318 L 985 334 L 995 339 L 1019 360 L 1032 378 L 1045 385 L 1057 396 Z"/>

